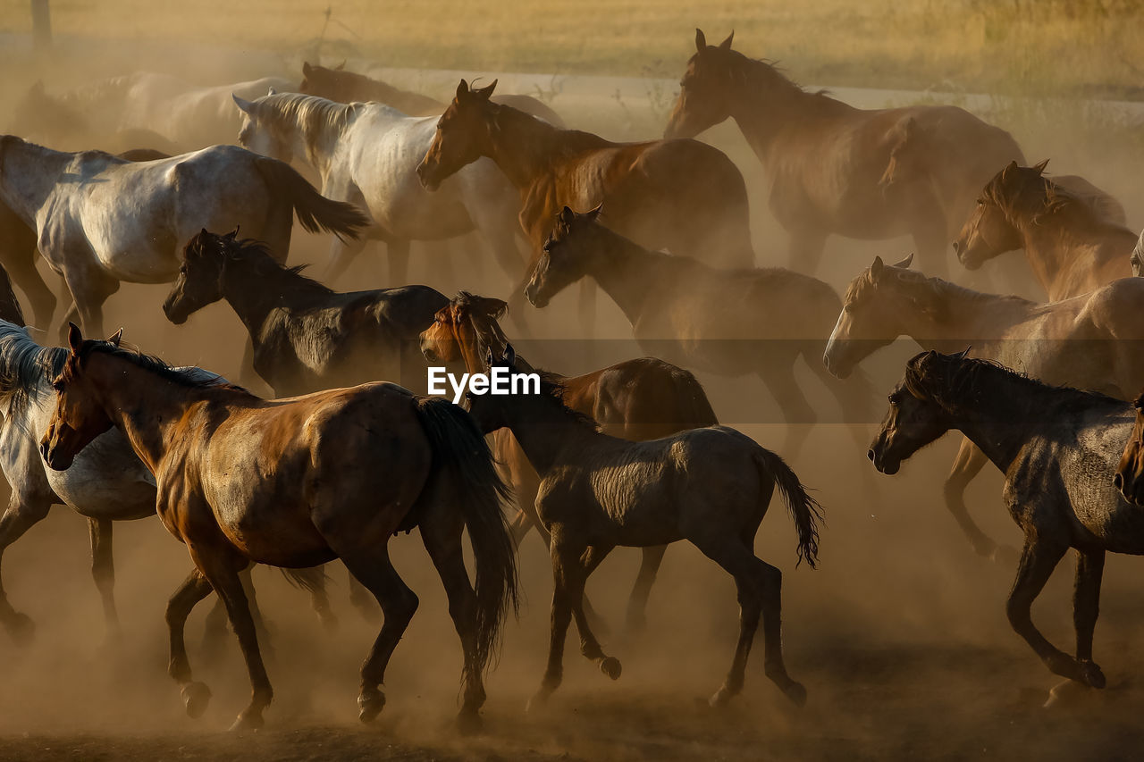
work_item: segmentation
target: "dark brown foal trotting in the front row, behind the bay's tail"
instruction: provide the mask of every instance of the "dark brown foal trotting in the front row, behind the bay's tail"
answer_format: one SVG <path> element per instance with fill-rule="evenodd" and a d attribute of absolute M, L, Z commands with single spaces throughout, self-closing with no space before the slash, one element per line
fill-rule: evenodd
<path fill-rule="evenodd" d="M 494 364 L 493 356 L 488 365 Z M 495 360 L 510 374 L 532 373 L 513 352 Z M 651 442 L 602 434 L 596 422 L 570 408 L 551 378 L 527 394 L 470 395 L 474 418 L 485 431 L 508 428 L 540 474 L 537 514 L 553 535 L 551 640 L 548 667 L 530 706 L 561 684 L 564 641 L 575 618 L 580 652 L 615 680 L 621 666 L 604 653 L 583 611 L 588 576 L 617 546 L 649 547 L 688 540 L 734 578 L 739 593 L 739 642 L 713 706 L 742 689 L 747 656 L 763 619 L 766 676 L 797 705 L 807 689 L 782 664 L 780 588 L 782 573 L 754 551 L 755 534 L 774 489 L 786 498 L 799 534 L 799 558 L 818 557 L 818 503 L 773 452 L 739 431 L 714 426 Z"/>

